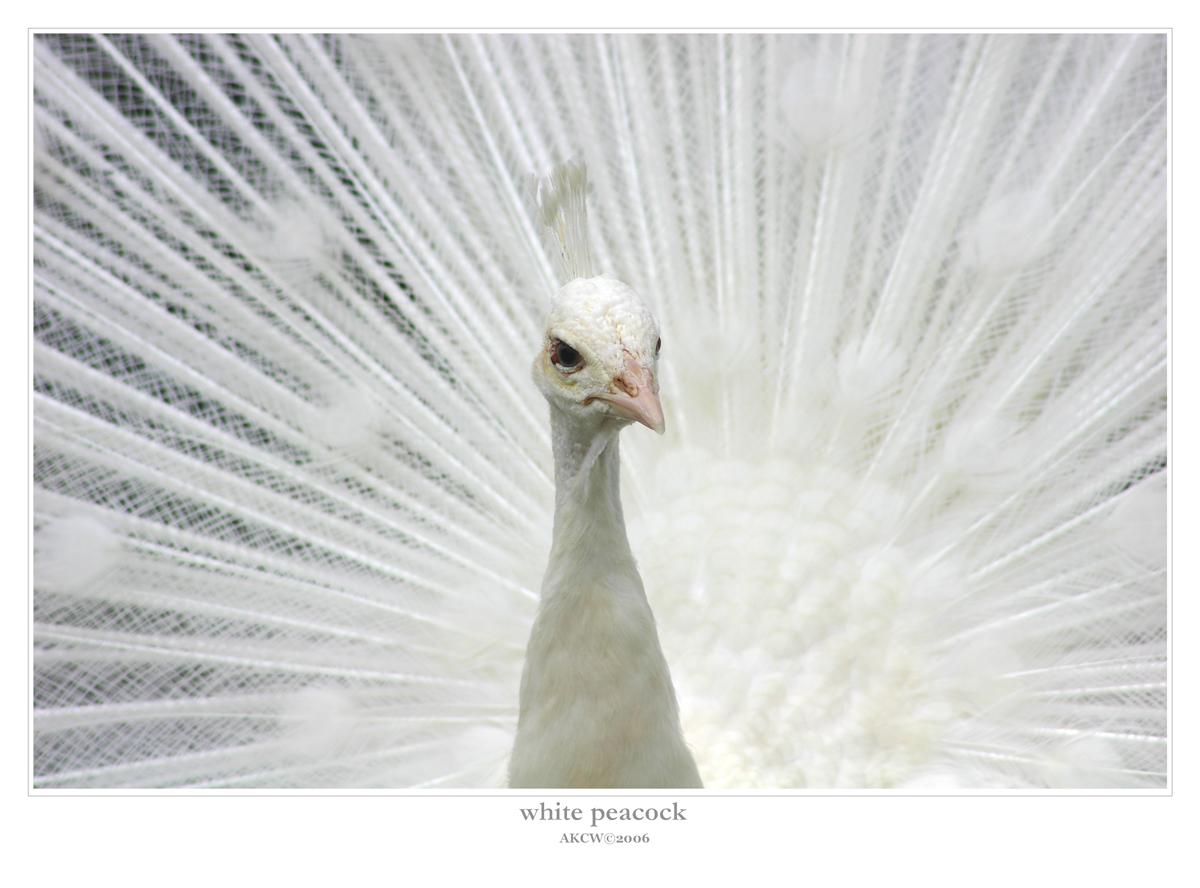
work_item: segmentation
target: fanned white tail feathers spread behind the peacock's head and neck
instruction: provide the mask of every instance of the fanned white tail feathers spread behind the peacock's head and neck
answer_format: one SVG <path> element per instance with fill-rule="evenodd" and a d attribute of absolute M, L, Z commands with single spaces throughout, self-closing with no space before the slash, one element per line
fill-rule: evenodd
<path fill-rule="evenodd" d="M 1164 785 L 1165 56 L 40 35 L 35 786 L 503 786 L 593 265 L 706 786 Z"/>

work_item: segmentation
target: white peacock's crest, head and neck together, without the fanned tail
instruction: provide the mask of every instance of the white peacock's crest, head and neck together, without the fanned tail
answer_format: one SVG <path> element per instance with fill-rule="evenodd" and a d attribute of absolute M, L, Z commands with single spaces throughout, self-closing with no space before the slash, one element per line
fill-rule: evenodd
<path fill-rule="evenodd" d="M 509 785 L 700 788 L 620 508 L 620 428 L 664 432 L 659 326 L 628 286 L 592 276 L 584 168 L 564 164 L 545 186 L 547 241 L 571 280 L 554 295 L 533 366 L 550 403 L 554 540 Z"/>

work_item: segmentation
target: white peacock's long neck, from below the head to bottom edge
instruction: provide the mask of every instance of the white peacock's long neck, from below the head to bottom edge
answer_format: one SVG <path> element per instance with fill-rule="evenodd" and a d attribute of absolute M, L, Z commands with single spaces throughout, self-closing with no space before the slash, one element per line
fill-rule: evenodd
<path fill-rule="evenodd" d="M 620 510 L 620 422 L 551 402 L 554 541 L 521 673 L 514 787 L 700 787 Z"/>

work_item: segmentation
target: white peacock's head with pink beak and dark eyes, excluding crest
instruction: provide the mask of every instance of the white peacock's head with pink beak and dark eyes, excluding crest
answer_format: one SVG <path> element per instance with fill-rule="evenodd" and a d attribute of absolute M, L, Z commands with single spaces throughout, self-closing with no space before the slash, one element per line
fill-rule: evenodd
<path fill-rule="evenodd" d="M 552 404 L 583 422 L 666 430 L 659 403 L 659 324 L 612 275 L 576 278 L 551 300 L 533 377 Z"/>

